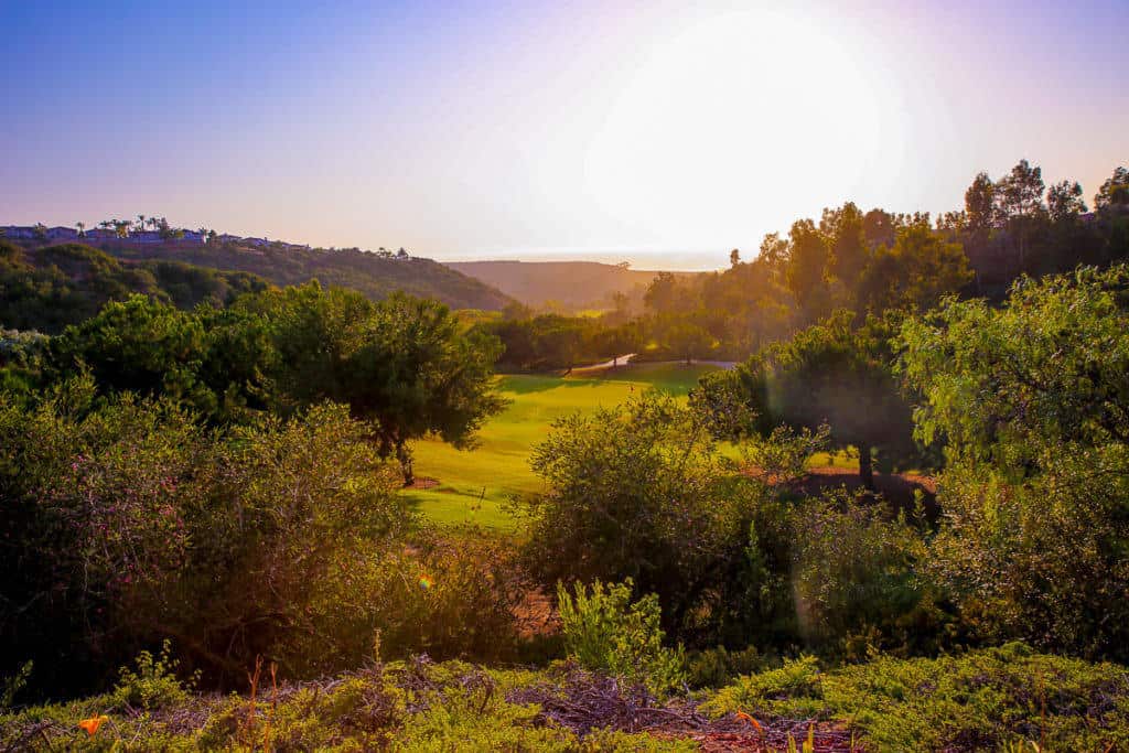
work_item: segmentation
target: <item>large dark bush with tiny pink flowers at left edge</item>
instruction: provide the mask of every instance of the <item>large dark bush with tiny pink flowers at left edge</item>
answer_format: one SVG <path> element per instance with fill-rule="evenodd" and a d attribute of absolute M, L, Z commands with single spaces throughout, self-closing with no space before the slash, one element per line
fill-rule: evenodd
<path fill-rule="evenodd" d="M 166 402 L 98 402 L 88 379 L 29 408 L 0 396 L 0 672 L 33 659 L 40 691 L 96 686 L 169 637 L 212 680 L 260 654 L 303 669 L 307 637 L 352 640 L 347 602 L 313 607 L 343 552 L 394 549 L 396 485 L 340 406 L 220 436 Z"/>

